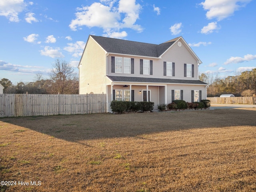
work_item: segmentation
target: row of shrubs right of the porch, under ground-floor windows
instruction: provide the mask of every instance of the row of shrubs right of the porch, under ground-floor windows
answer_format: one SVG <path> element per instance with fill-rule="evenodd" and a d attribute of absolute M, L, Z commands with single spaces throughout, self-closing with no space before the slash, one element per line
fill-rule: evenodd
<path fill-rule="evenodd" d="M 210 100 L 202 100 L 201 102 L 186 102 L 184 100 L 174 100 L 172 103 L 158 105 L 160 111 L 167 110 L 185 110 L 185 109 L 208 109 L 211 106 Z"/>

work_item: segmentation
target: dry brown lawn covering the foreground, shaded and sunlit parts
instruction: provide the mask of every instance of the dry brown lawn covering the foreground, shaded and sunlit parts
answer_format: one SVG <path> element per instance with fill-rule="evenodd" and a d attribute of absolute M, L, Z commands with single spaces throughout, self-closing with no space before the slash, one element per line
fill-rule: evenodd
<path fill-rule="evenodd" d="M 256 108 L 0 119 L 0 191 L 256 191 Z"/>

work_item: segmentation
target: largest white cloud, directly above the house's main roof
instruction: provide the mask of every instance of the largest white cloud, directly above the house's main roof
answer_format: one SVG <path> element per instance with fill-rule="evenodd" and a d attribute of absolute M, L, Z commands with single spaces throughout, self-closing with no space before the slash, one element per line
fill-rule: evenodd
<path fill-rule="evenodd" d="M 120 33 L 119 30 L 122 28 L 131 28 L 142 32 L 142 27 L 135 24 L 141 10 L 140 4 L 136 4 L 135 0 L 119 0 L 116 6 L 114 6 L 115 0 L 101 0 L 100 2 L 77 8 L 76 19 L 71 21 L 70 29 L 77 30 L 82 26 L 99 27 L 106 32 L 105 36 Z M 124 32 L 120 34 L 123 36 Z"/>

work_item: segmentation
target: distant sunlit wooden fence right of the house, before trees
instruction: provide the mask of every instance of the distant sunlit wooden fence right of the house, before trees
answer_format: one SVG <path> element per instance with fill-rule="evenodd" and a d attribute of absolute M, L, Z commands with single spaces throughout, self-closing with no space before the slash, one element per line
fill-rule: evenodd
<path fill-rule="evenodd" d="M 212 104 L 256 104 L 256 97 L 208 97 Z"/>

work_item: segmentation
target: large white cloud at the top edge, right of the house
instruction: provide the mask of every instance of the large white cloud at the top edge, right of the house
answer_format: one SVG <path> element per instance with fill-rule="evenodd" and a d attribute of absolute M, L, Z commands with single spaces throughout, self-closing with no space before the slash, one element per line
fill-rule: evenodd
<path fill-rule="evenodd" d="M 222 20 L 234 14 L 236 10 L 246 6 L 251 0 L 205 0 L 200 5 L 203 6 L 208 19 L 217 18 Z"/>

